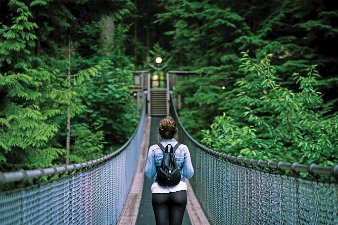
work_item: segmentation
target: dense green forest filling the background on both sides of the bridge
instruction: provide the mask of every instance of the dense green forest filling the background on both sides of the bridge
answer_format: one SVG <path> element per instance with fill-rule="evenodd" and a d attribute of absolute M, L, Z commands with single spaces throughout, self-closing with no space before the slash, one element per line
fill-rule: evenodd
<path fill-rule="evenodd" d="M 181 122 L 214 150 L 338 163 L 334 1 L 0 1 L 1 170 L 89 160 L 132 134 L 132 70 L 193 71 Z M 86 151 L 83 151 L 86 149 Z"/>

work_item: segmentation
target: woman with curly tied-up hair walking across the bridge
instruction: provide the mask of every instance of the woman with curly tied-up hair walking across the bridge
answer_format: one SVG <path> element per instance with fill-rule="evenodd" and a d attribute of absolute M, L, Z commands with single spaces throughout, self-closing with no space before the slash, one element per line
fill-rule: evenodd
<path fill-rule="evenodd" d="M 156 224 L 180 225 L 187 203 L 184 178 L 191 178 L 192 175 L 194 175 L 194 168 L 191 164 L 190 153 L 187 146 L 177 144 L 177 127 L 171 117 L 161 120 L 158 139 L 159 144 L 149 148 L 147 164 L 146 168 L 144 168 L 144 173 L 147 177 L 153 179 L 151 191 Z M 163 185 L 163 182 L 158 182 L 157 179 L 157 171 L 160 170 L 165 150 L 174 152 L 174 158 L 176 159 L 180 174 L 180 180 L 176 185 Z M 170 173 L 174 175 L 175 172 L 172 170 L 169 174 Z"/>

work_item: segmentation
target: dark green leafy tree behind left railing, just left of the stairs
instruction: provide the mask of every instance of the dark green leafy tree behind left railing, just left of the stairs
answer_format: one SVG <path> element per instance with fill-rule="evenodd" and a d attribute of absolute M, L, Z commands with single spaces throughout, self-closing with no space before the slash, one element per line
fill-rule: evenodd
<path fill-rule="evenodd" d="M 124 143 L 133 133 L 138 116 L 135 114 L 136 102 L 130 95 L 132 84 L 132 65 L 116 68 L 110 61 L 102 62 L 103 70 L 91 80 L 84 99 L 88 105 L 82 120 L 95 121 L 102 124 L 106 140 Z"/>

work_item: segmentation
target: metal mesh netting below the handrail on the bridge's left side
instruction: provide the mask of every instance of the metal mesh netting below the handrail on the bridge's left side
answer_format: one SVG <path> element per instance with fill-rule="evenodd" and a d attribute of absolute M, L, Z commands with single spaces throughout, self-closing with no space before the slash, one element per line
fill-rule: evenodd
<path fill-rule="evenodd" d="M 145 108 L 129 144 L 104 164 L 60 180 L 0 193 L 0 224 L 116 224 L 137 165 Z"/>

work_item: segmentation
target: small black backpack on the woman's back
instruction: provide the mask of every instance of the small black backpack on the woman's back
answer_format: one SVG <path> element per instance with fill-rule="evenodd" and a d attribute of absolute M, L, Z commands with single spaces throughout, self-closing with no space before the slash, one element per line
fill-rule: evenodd
<path fill-rule="evenodd" d="M 168 152 L 169 145 L 171 152 Z M 168 144 L 166 148 L 164 148 L 161 143 L 158 144 L 164 154 L 161 165 L 157 168 L 156 180 L 162 186 L 178 185 L 181 181 L 180 168 L 177 167 L 174 154 L 179 145 L 180 143 L 177 143 L 175 147 L 172 147 L 171 144 Z"/>

